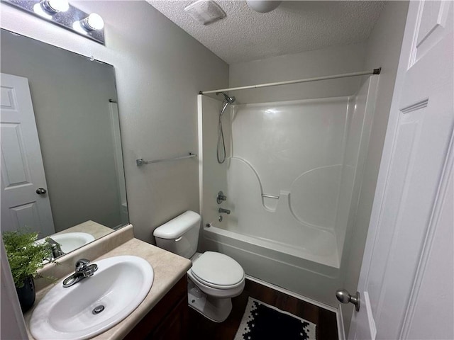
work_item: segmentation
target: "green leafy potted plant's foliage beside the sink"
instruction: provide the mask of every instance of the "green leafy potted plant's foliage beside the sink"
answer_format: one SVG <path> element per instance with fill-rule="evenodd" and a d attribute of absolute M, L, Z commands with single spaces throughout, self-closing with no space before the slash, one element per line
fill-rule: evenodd
<path fill-rule="evenodd" d="M 50 256 L 52 253 L 50 244 L 35 243 L 38 232 L 19 229 L 15 232 L 4 232 L 2 236 L 16 288 L 23 287 L 23 280 L 29 276 L 39 278 L 37 271 L 43 268 L 45 264 L 43 261 L 48 260 L 57 264 Z"/>

